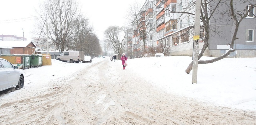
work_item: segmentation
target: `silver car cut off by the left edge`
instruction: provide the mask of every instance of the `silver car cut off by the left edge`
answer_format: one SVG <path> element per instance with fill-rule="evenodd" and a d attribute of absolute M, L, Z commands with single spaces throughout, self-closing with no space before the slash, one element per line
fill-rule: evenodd
<path fill-rule="evenodd" d="M 0 58 L 0 91 L 8 88 L 23 88 L 24 74 L 18 66 L 13 66 L 12 63 Z"/>

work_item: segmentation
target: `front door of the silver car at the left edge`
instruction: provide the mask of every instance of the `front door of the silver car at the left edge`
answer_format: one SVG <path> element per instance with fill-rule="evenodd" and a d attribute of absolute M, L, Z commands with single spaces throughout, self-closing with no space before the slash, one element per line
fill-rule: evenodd
<path fill-rule="evenodd" d="M 8 74 L 8 87 L 18 84 L 19 73 L 14 66 L 6 60 L 1 60 L 4 69 Z"/>

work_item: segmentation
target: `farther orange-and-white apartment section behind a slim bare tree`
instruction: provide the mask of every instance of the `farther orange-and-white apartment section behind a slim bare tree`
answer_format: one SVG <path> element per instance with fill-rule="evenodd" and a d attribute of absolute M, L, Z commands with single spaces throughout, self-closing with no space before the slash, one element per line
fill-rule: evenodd
<path fill-rule="evenodd" d="M 137 19 L 134 19 L 133 56 L 135 57 L 141 57 L 144 54 L 144 49 L 156 45 L 154 2 L 155 1 L 146 0 L 136 16 Z"/>

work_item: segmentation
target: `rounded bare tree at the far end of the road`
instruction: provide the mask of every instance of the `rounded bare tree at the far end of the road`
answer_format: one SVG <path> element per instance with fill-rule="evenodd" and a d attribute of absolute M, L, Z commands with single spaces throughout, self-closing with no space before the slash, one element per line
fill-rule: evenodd
<path fill-rule="evenodd" d="M 110 48 L 117 52 L 118 56 L 120 56 L 120 51 L 122 51 L 125 44 L 127 44 L 125 41 L 126 32 L 127 27 L 118 26 L 110 26 L 104 31 L 105 42 L 111 45 Z"/>

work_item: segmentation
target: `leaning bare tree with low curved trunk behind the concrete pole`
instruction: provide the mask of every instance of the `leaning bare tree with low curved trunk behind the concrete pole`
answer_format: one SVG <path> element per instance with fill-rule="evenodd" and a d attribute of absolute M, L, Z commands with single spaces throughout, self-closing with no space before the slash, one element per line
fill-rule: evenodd
<path fill-rule="evenodd" d="M 166 4 L 165 2 L 163 2 Z M 233 7 L 233 4 L 245 5 L 243 10 L 236 10 Z M 241 4 L 243 3 L 243 4 Z M 246 4 L 245 4 L 246 3 Z M 183 6 L 180 6 L 184 11 L 174 11 L 167 6 L 167 8 L 163 8 L 165 10 L 170 11 L 170 13 L 179 13 L 180 17 L 182 15 L 187 14 L 194 18 L 195 13 L 193 11 L 193 8 L 195 8 L 195 0 L 192 0 L 191 2 L 188 2 L 189 6 L 185 6 L 186 8 L 183 8 Z M 250 8 L 246 9 L 246 6 L 250 4 Z M 255 2 L 252 3 L 248 0 L 240 0 L 233 2 L 233 0 L 202 0 L 201 1 L 201 28 L 204 29 L 205 35 L 201 38 L 204 40 L 204 45 L 199 53 L 198 59 L 200 59 L 203 56 L 203 53 L 205 52 L 206 48 L 208 47 L 209 43 L 208 40 L 210 39 L 210 36 L 212 36 L 213 33 L 221 33 L 217 31 L 217 24 L 221 23 L 223 20 L 227 20 L 228 16 L 232 18 L 233 23 L 235 24 L 235 30 L 233 32 L 232 40 L 230 42 L 230 49 L 223 54 L 222 56 L 219 56 L 217 58 L 211 59 L 211 60 L 199 60 L 198 64 L 207 64 L 207 63 L 214 63 L 218 60 L 221 60 L 223 58 L 226 58 L 230 53 L 234 52 L 234 42 L 236 39 L 238 39 L 237 33 L 240 22 L 248 16 L 248 13 L 251 12 L 251 10 L 255 7 Z M 218 10 L 219 8 L 222 8 L 222 10 Z M 227 10 L 223 10 L 223 8 L 226 8 Z M 215 16 L 215 14 L 221 15 L 221 16 Z M 210 25 L 211 20 L 216 24 L 215 26 Z M 227 24 L 228 25 L 228 24 Z M 192 62 L 189 64 L 188 68 L 186 69 L 186 73 L 190 73 L 192 70 L 193 64 Z"/>

